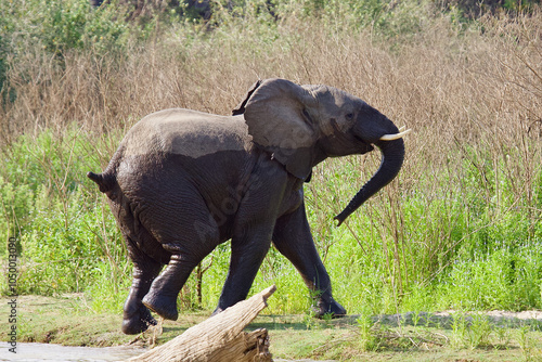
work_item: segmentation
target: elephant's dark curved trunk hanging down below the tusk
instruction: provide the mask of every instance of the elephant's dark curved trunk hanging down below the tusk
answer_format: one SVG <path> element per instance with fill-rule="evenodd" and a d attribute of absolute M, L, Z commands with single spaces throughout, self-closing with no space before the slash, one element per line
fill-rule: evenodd
<path fill-rule="evenodd" d="M 353 196 L 348 206 L 335 217 L 338 225 L 356 211 L 364 202 L 377 193 L 396 178 L 404 159 L 404 142 L 402 139 L 392 141 L 378 141 L 375 143 L 382 151 L 382 163 L 376 173 Z"/>

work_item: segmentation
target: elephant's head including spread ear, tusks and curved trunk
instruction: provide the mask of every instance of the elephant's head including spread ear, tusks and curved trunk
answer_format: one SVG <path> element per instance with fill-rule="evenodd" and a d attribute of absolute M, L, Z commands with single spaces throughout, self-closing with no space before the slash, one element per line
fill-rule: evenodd
<path fill-rule="evenodd" d="M 379 169 L 335 217 L 339 224 L 393 180 L 403 163 L 408 131 L 399 132 L 378 111 L 332 87 L 259 81 L 234 111 L 242 113 L 254 142 L 302 180 L 326 157 L 364 154 L 373 145 L 382 151 Z"/>

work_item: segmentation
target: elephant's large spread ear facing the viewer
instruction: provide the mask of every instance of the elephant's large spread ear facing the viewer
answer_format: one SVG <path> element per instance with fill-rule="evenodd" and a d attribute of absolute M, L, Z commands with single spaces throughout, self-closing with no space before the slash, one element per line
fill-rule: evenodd
<path fill-rule="evenodd" d="M 245 121 L 254 142 L 295 177 L 306 180 L 318 138 L 311 119 L 317 100 L 310 91 L 285 79 L 267 79 L 245 104 Z"/>

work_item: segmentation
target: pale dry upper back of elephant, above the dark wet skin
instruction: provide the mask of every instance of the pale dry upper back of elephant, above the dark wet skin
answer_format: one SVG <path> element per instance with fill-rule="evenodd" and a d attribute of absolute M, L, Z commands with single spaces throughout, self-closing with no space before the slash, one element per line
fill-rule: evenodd
<path fill-rule="evenodd" d="M 136 124 L 122 140 L 125 156 L 152 154 L 192 158 L 224 151 L 246 151 L 251 138 L 243 116 L 218 116 L 171 108 Z"/>

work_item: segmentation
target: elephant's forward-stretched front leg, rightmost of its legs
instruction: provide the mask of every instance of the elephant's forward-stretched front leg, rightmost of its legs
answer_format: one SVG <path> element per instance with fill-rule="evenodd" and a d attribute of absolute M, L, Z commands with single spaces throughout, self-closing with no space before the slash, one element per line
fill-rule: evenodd
<path fill-rule="evenodd" d="M 332 313 L 334 316 L 346 314 L 345 308 L 333 299 L 330 275 L 314 246 L 305 214 L 305 203 L 294 212 L 276 220 L 273 244 L 292 261 L 309 289 L 314 293 L 319 316 L 326 313 Z"/>

